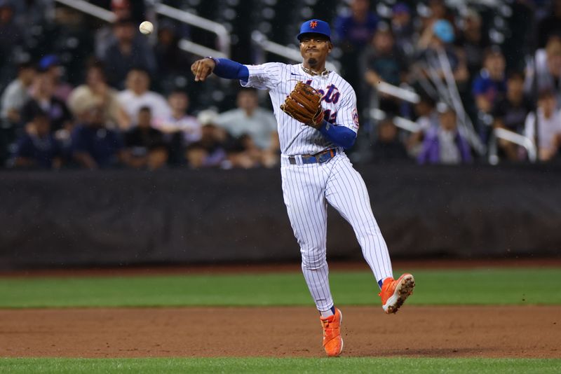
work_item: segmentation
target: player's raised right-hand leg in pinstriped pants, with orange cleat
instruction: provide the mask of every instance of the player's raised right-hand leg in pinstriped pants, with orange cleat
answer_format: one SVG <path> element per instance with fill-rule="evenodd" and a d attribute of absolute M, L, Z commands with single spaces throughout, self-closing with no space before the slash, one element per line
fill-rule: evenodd
<path fill-rule="evenodd" d="M 363 177 L 346 155 L 340 155 L 332 162 L 325 194 L 327 201 L 351 223 L 363 256 L 380 286 L 382 307 L 386 313 L 395 313 L 410 296 L 414 278 L 405 274 L 393 279 L 388 247 L 374 219 Z"/>

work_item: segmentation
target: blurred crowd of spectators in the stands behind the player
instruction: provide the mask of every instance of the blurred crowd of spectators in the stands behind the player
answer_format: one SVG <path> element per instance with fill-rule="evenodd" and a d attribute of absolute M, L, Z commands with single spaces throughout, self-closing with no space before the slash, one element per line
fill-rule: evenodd
<path fill-rule="evenodd" d="M 148 18 L 144 1 L 91 2 L 116 21 L 93 22 L 50 0 L 0 0 L 1 167 L 278 165 L 266 97 L 236 89 L 231 107 L 218 110 L 177 79 L 198 58 L 179 48 L 189 36 L 179 25 L 160 20 L 147 37 L 137 29 Z M 525 12 L 517 48 L 496 43 L 466 4 L 391 1 L 379 14 L 373 1 L 342 1 L 328 21 L 340 73 L 358 95 L 353 160 L 527 162 L 531 147 L 520 139 L 541 162 L 561 158 L 561 0 L 498 2 Z"/>

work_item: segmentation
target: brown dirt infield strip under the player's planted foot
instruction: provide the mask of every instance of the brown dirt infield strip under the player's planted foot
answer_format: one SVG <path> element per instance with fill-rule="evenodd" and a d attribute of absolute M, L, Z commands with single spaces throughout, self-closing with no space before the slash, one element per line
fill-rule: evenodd
<path fill-rule="evenodd" d="M 561 306 L 344 307 L 345 356 L 561 357 Z M 323 356 L 313 307 L 0 310 L 0 356 Z"/>

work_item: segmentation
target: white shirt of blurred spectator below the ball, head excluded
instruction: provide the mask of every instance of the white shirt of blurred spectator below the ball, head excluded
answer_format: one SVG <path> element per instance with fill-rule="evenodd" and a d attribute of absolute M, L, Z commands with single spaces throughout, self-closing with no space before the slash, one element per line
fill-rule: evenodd
<path fill-rule="evenodd" d="M 142 95 L 136 95 L 131 90 L 123 90 L 119 92 L 119 102 L 121 102 L 130 119 L 133 120 L 133 124 L 137 123 L 138 111 L 142 106 L 150 108 L 154 122 L 171 116 L 168 102 L 156 92 L 147 91 Z"/>

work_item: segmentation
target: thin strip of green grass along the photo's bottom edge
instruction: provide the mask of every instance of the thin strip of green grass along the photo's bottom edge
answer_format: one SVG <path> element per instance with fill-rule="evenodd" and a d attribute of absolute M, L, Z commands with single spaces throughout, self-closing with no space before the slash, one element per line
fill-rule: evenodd
<path fill-rule="evenodd" d="M 559 373 L 561 359 L 0 359 L 1 373 Z"/>

